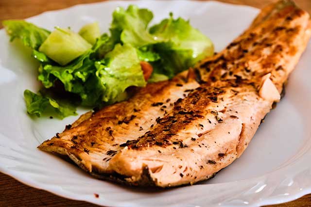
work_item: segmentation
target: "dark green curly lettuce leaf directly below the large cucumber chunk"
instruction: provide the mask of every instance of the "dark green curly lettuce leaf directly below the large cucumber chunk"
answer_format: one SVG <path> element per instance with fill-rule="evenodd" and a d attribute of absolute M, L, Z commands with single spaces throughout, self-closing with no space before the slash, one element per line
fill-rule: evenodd
<path fill-rule="evenodd" d="M 77 94 L 83 106 L 97 105 L 103 94 L 100 79 L 95 75 L 95 62 L 101 55 L 112 50 L 113 45 L 107 44 L 110 38 L 104 34 L 97 39 L 95 45 L 71 64 L 60 66 L 55 64 L 41 64 L 38 80 L 45 88 L 54 86 L 56 80 L 63 83 L 67 92 Z M 110 45 L 110 47 L 108 47 Z"/>

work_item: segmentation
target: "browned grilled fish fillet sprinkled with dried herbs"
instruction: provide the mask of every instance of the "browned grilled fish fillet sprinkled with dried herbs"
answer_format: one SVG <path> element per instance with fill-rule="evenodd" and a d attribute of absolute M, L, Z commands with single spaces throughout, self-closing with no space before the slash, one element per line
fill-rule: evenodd
<path fill-rule="evenodd" d="M 241 156 L 280 100 L 311 36 L 309 18 L 290 0 L 271 4 L 214 57 L 82 115 L 38 147 L 131 185 L 208 179 Z"/>

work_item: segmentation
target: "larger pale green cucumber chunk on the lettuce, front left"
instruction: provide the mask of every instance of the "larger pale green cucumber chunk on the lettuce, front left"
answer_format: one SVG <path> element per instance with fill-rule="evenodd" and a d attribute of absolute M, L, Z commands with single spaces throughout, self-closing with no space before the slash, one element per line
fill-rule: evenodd
<path fill-rule="evenodd" d="M 92 45 L 78 33 L 56 28 L 42 43 L 39 51 L 58 64 L 66 65 L 91 47 Z"/>

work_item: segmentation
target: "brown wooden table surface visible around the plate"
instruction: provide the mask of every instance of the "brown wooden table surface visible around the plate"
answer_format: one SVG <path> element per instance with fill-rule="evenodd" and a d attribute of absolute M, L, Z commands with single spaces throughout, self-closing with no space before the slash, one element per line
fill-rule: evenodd
<path fill-rule="evenodd" d="M 101 0 L 0 0 L 0 21 L 3 19 L 27 18 L 44 11 L 66 8 L 79 3 Z M 228 3 L 246 4 L 262 8 L 274 0 L 221 0 Z M 311 0 L 295 0 L 311 13 Z M 1 28 L 1 26 L 0 26 Z M 50 192 L 37 190 L 19 183 L 8 175 L 0 173 L 0 207 L 95 207 L 86 202 L 72 201 Z M 311 194 L 295 201 L 271 207 L 311 207 Z"/>

